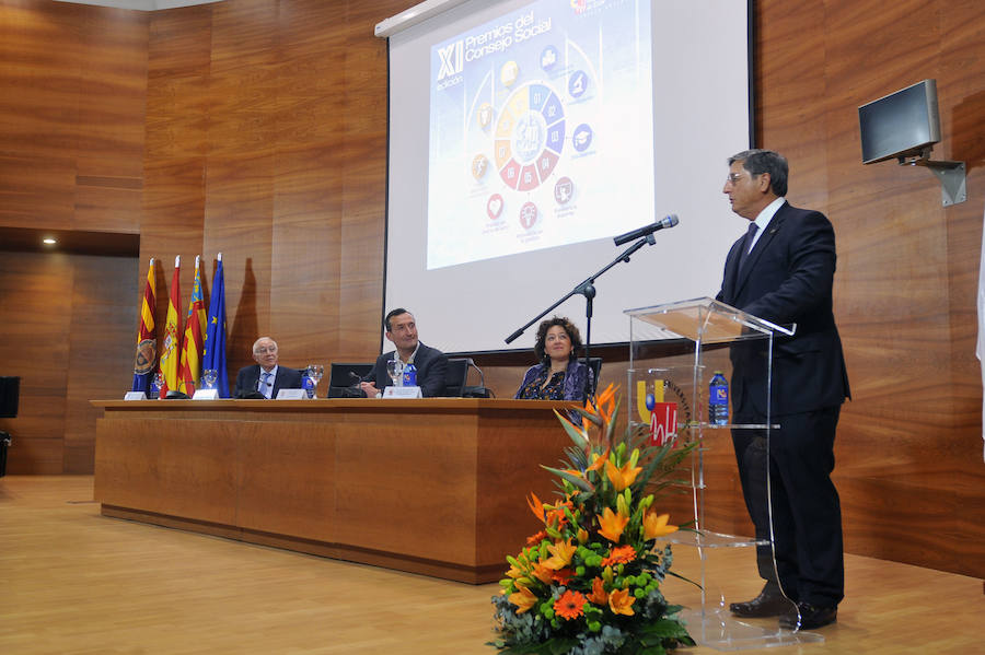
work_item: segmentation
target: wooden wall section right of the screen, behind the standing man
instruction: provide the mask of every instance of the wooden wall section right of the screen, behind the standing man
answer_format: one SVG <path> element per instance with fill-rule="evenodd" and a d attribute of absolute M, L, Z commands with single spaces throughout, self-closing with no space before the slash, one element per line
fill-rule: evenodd
<path fill-rule="evenodd" d="M 974 184 L 981 120 L 960 117 L 962 106 L 981 117 L 980 4 L 764 0 L 756 69 L 761 142 L 790 156 L 790 200 L 827 213 L 838 239 L 835 314 L 854 396 L 836 445 L 846 548 L 974 575 L 972 526 L 985 523 L 985 494 L 970 492 L 985 489 L 973 327 L 985 194 Z M 793 63 L 800 56 L 812 66 Z M 861 164 L 858 105 L 925 78 L 939 90 L 934 159 L 972 143 L 969 200 L 951 208 L 926 169 Z M 803 96 L 804 113 L 791 87 L 823 93 Z"/>

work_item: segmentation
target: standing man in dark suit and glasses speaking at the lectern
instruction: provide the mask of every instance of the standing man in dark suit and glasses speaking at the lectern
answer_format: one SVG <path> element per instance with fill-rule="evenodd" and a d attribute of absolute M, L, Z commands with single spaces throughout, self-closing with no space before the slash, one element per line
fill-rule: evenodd
<path fill-rule="evenodd" d="M 842 514 L 831 481 L 842 402 L 850 397 L 842 341 L 832 313 L 835 237 L 824 214 L 791 207 L 787 161 L 768 150 L 729 159 L 722 191 L 732 211 L 751 221 L 725 265 L 718 300 L 777 325 L 796 324 L 773 349 L 768 464 L 763 431 L 735 429 L 732 442 L 742 491 L 756 537 L 769 539 L 766 469 L 773 504 L 776 566 L 769 547 L 757 549 L 763 592 L 733 603 L 740 617 L 781 616 L 792 628 L 820 628 L 837 618 L 844 597 Z M 732 422 L 763 424 L 767 399 L 765 341 L 732 347 Z M 781 593 L 783 590 L 783 593 Z M 792 613 L 792 612 L 791 612 Z"/>

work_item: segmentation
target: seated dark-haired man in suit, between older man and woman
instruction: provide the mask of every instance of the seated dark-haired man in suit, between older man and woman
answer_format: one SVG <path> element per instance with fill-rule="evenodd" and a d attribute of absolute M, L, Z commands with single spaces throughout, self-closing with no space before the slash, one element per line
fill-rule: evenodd
<path fill-rule="evenodd" d="M 444 374 L 448 370 L 448 356 L 440 350 L 428 348 L 417 339 L 417 324 L 414 315 L 398 307 L 383 319 L 386 338 L 393 341 L 396 350 L 384 352 L 376 358 L 376 364 L 366 377 L 368 382 L 359 385 L 368 398 L 375 398 L 385 387 L 393 385 L 386 374 L 386 362 L 397 356 L 405 364 L 417 367 L 417 386 L 424 397 L 439 396 L 444 390 Z"/>

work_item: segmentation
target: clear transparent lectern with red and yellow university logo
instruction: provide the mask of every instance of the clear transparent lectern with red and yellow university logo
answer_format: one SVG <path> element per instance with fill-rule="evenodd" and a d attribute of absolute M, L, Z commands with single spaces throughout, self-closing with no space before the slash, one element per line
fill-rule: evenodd
<path fill-rule="evenodd" d="M 776 616 L 740 618 L 730 611 L 732 603 L 758 594 L 761 576 L 776 580 L 768 466 L 770 432 L 778 428 L 769 418 L 773 339 L 792 335 L 796 326 L 773 325 L 708 297 L 625 313 L 630 331 L 628 421 L 648 425 L 653 442 L 694 446 L 682 465 L 680 488 L 668 499 L 672 523 L 692 528 L 669 539 L 679 546 L 674 569 L 699 587 L 698 603 L 683 615 L 692 636 L 721 651 L 823 641 L 815 633 L 783 628 Z M 765 353 L 756 360 L 766 378 L 765 397 L 757 401 L 766 408 L 765 421 L 735 423 L 731 411 L 727 418 L 709 416 L 712 377 L 721 373 L 731 381 L 732 356 L 750 349 L 757 358 Z M 744 469 L 762 467 L 756 470 L 766 480 L 765 489 L 750 488 L 751 499 L 758 499 L 766 512 L 768 529 L 760 535 L 743 500 L 733 440 L 752 441 L 755 447 L 745 448 Z M 780 606 L 780 618 L 799 624 L 797 605 L 787 598 Z"/>

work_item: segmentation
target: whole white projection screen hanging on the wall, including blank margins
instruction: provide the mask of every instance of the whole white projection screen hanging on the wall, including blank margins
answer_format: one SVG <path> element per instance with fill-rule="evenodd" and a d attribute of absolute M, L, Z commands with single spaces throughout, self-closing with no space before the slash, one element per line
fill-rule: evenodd
<path fill-rule="evenodd" d="M 426 4 L 432 4 L 426 3 Z M 748 0 L 471 0 L 390 38 L 384 307 L 450 353 L 505 339 L 595 280 L 593 344 L 624 309 L 715 295 L 745 231 L 721 189 L 751 143 Z M 586 331 L 586 300 L 552 314 Z"/>

